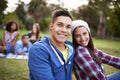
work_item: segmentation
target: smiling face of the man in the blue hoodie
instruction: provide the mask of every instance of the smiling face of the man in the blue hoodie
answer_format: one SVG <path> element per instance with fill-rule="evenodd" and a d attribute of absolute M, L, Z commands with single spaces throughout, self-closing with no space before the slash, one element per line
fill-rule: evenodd
<path fill-rule="evenodd" d="M 56 43 L 64 43 L 71 34 L 72 20 L 66 16 L 57 17 L 54 23 L 51 23 L 51 40 Z"/>

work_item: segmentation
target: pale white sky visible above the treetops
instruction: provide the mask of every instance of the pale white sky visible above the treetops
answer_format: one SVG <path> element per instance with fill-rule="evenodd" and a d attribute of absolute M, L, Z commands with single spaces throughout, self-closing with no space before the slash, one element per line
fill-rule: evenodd
<path fill-rule="evenodd" d="M 4 14 L 8 12 L 14 12 L 18 7 L 18 4 L 23 2 L 25 5 L 30 3 L 31 0 L 7 0 L 7 8 L 3 11 Z M 87 5 L 87 0 L 46 0 L 49 4 L 58 4 L 62 5 L 62 7 L 67 8 L 68 10 L 77 9 L 81 5 Z M 58 2 L 59 1 L 59 2 Z"/>

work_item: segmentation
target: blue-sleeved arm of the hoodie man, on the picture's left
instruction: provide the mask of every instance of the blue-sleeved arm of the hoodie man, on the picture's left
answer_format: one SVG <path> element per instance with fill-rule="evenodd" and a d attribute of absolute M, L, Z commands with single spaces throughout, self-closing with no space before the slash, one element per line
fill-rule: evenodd
<path fill-rule="evenodd" d="M 31 47 L 28 60 L 31 80 L 54 80 L 48 53 L 42 46 Z"/>

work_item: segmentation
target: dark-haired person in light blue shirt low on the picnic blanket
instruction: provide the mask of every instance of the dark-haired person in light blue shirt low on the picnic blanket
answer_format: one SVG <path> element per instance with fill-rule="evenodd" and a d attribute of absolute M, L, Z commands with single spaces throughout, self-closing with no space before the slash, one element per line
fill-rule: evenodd
<path fill-rule="evenodd" d="M 15 54 L 16 55 L 28 55 L 29 50 L 32 46 L 32 43 L 29 41 L 28 35 L 24 34 L 22 40 L 16 42 L 15 45 Z"/>

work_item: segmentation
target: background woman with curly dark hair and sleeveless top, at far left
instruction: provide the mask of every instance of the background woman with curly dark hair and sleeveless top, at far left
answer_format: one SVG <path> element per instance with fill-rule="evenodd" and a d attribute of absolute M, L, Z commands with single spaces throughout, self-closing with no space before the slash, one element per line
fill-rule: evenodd
<path fill-rule="evenodd" d="M 18 25 L 15 21 L 8 21 L 6 24 L 6 31 L 4 32 L 4 45 L 7 53 L 14 53 L 14 46 L 18 39 Z"/>

